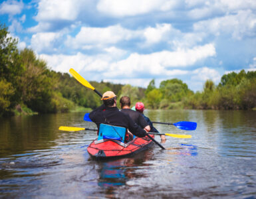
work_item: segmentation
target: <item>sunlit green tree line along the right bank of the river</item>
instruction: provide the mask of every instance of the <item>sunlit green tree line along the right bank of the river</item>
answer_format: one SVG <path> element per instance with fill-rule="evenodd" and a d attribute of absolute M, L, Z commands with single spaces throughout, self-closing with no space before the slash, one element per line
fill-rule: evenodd
<path fill-rule="evenodd" d="M 154 80 L 146 89 L 148 107 L 155 109 L 253 109 L 256 108 L 256 71 L 231 72 L 215 85 L 207 80 L 202 92 L 192 92 L 182 80 Z"/>

